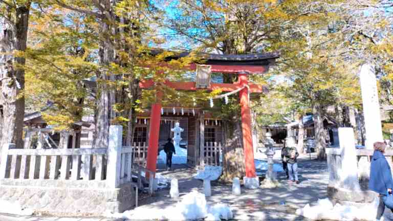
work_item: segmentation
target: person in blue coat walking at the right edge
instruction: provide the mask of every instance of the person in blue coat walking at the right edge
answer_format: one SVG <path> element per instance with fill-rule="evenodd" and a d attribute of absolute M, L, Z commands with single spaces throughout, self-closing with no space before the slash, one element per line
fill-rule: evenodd
<path fill-rule="evenodd" d="M 383 197 L 386 196 L 387 193 L 391 194 L 391 189 L 393 188 L 393 179 L 391 177 L 390 166 L 383 156 L 385 148 L 386 144 L 383 142 L 374 143 L 374 154 L 370 168 L 370 180 L 368 183 L 368 188 L 370 190 L 379 193 L 377 221 L 381 219 L 383 212 L 385 211 Z"/>

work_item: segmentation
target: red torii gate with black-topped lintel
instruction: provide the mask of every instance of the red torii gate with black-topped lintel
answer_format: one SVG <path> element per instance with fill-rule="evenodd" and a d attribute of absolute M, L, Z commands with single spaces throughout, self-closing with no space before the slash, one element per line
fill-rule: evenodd
<path fill-rule="evenodd" d="M 195 82 L 171 82 L 165 81 L 164 84 L 175 89 L 175 90 L 217 90 L 220 89 L 223 92 L 232 92 L 238 89 L 239 91 L 240 104 L 241 104 L 241 116 L 242 116 L 242 132 L 243 132 L 243 148 L 245 155 L 245 168 L 246 177 L 255 178 L 255 165 L 254 165 L 254 152 L 252 143 L 251 133 L 251 114 L 249 105 L 249 93 L 263 93 L 263 87 L 261 85 L 252 84 L 248 82 L 249 74 L 263 74 L 269 70 L 269 66 L 274 64 L 277 53 L 267 54 L 253 54 L 253 55 L 208 55 L 206 65 L 210 65 L 211 72 L 226 73 L 226 74 L 238 74 L 238 81 L 231 83 L 211 83 L 210 87 L 206 89 L 199 89 L 196 87 Z M 197 64 L 191 64 L 189 67 L 191 70 L 196 70 Z M 140 82 L 142 89 L 147 89 L 154 85 L 152 80 L 146 80 Z M 157 155 L 158 155 L 158 141 L 160 133 L 160 120 L 161 120 L 161 97 L 162 94 L 157 94 L 157 102 L 151 106 L 150 114 L 150 130 L 149 130 L 149 142 L 147 150 L 147 169 L 156 171 L 157 166 Z"/>

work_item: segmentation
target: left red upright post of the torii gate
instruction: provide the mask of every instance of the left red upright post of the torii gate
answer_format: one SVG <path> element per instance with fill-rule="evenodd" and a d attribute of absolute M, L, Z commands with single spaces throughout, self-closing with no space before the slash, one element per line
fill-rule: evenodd
<path fill-rule="evenodd" d="M 150 114 L 150 130 L 149 130 L 149 145 L 147 148 L 147 162 L 146 168 L 150 171 L 156 171 L 157 155 L 158 155 L 158 139 L 160 136 L 160 120 L 161 120 L 161 97 L 162 94 L 157 94 L 158 101 L 151 105 Z"/>

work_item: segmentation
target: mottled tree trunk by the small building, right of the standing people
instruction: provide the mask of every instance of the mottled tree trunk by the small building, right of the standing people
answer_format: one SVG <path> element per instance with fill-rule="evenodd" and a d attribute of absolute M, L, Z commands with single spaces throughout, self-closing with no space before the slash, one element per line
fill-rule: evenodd
<path fill-rule="evenodd" d="M 323 128 L 322 108 L 319 105 L 313 106 L 315 142 L 318 160 L 326 158 L 325 130 Z"/>

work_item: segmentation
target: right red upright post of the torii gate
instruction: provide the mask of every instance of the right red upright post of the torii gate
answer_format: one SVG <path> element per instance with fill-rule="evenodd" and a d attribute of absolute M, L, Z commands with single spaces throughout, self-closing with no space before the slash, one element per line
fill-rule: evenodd
<path fill-rule="evenodd" d="M 239 74 L 239 84 L 247 85 L 247 74 Z M 243 148 L 245 157 L 246 177 L 255 178 L 254 148 L 252 146 L 251 113 L 247 87 L 239 92 L 242 113 Z"/>

